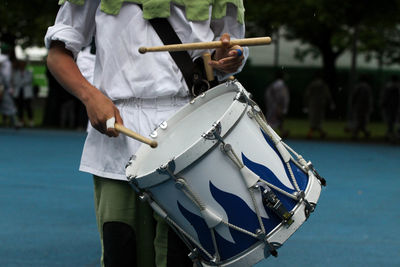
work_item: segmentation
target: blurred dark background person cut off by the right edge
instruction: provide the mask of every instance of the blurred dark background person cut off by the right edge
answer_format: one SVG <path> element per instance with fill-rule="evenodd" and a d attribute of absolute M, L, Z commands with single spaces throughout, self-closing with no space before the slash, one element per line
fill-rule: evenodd
<path fill-rule="evenodd" d="M 400 83 L 397 75 L 393 75 L 382 88 L 379 107 L 387 126 L 386 140 L 396 141 L 400 134 L 399 132 L 396 133 L 395 130 L 400 115 Z"/>

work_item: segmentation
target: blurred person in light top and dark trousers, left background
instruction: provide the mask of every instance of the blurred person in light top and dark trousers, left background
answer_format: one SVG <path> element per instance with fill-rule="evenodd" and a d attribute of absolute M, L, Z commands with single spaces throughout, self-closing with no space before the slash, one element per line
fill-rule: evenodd
<path fill-rule="evenodd" d="M 14 65 L 12 87 L 15 103 L 17 105 L 18 123 L 21 126 L 33 127 L 33 74 L 26 68 L 26 61 L 17 60 Z M 25 122 L 25 112 L 28 122 Z"/>

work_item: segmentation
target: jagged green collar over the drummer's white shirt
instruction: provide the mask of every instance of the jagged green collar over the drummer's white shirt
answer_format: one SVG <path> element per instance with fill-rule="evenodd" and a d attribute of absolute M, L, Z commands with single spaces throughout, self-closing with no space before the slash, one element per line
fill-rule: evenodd
<path fill-rule="evenodd" d="M 59 4 L 69 1 L 76 5 L 83 5 L 85 0 L 59 0 Z M 90 1 L 90 0 L 89 0 Z M 143 18 L 168 18 L 170 16 L 171 3 L 184 6 L 186 17 L 190 21 L 204 21 L 209 19 L 209 6 L 212 5 L 213 19 L 220 19 L 226 16 L 228 3 L 236 6 L 237 21 L 244 23 L 243 0 L 101 0 L 100 10 L 110 15 L 117 15 L 123 2 L 141 4 L 143 6 Z"/>

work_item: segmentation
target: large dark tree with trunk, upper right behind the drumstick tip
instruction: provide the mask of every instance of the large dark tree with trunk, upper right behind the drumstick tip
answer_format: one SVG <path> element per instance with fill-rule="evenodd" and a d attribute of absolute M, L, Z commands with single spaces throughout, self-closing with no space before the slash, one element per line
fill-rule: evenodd
<path fill-rule="evenodd" d="M 396 0 L 249 0 L 246 17 L 249 27 L 273 33 L 284 27 L 286 38 L 300 40 L 309 48 L 296 51 L 301 60 L 307 55 L 320 56 L 325 79 L 336 86 L 336 60 L 346 50 L 357 56 L 360 39 L 374 23 L 389 27 L 396 23 Z M 256 26 L 254 26 L 256 25 Z M 250 30 L 250 33 L 254 30 Z M 353 72 L 355 72 L 355 60 Z"/>

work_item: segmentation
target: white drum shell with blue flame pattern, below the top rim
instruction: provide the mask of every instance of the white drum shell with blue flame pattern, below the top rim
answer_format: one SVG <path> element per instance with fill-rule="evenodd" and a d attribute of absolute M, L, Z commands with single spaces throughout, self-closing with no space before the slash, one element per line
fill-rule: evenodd
<path fill-rule="evenodd" d="M 230 106 L 227 109 L 235 109 L 236 107 Z M 246 106 L 232 127 L 222 129 L 222 132 L 225 133 L 223 142 L 231 145 L 240 161 L 251 171 L 254 171 L 255 168 L 256 172 L 268 170 L 265 175 L 261 174 L 263 176 L 260 177 L 261 179 L 268 180 L 268 182 L 283 190 L 294 192 L 296 189 L 293 181 L 291 181 L 286 164 L 274 148 L 272 140 L 263 132 L 254 118 L 249 116 L 250 110 L 251 106 Z M 173 127 L 173 125 L 170 126 Z M 224 124 L 221 127 L 224 128 Z M 238 225 L 246 231 L 256 233 L 257 229 L 261 228 L 256 215 L 256 212 L 258 212 L 263 218 L 262 221 L 269 242 L 276 244 L 276 246 L 282 245 L 306 220 L 304 204 L 298 204 L 296 201 L 279 195 L 284 204 L 294 213 L 293 218 L 295 219 L 295 223 L 290 227 L 283 225 L 276 215 L 264 208 L 260 192 L 254 194 L 254 205 L 239 167 L 221 150 L 221 144 L 216 140 L 206 140 L 206 142 L 212 143 L 211 149 L 190 165 L 182 168 L 178 173 L 174 173 L 175 177 L 183 178 L 188 188 L 198 197 L 202 205 L 224 222 Z M 184 156 L 185 153 L 179 157 Z M 179 160 L 179 157 L 176 160 Z M 311 172 L 303 171 L 294 161 L 291 166 L 295 169 L 297 183 L 305 191 L 305 197 L 316 203 L 321 190 L 317 179 Z M 267 177 L 271 173 L 279 180 L 278 182 L 274 180 L 275 178 L 271 180 Z M 160 174 L 155 170 L 147 177 L 151 179 L 151 177 L 157 175 L 165 176 L 165 173 Z M 143 177 L 136 178 L 141 179 Z M 199 207 L 185 195 L 181 190 L 181 185 L 177 184 L 174 179 L 165 179 L 164 177 L 160 181 L 163 182 L 140 189 L 147 191 L 170 219 L 186 234 L 193 237 L 195 242 L 201 244 L 204 249 L 213 254 L 215 251 L 210 231 L 202 218 Z M 254 236 L 232 230 L 225 223 L 219 223 L 214 229 L 217 244 L 219 244 L 221 266 L 252 265 L 267 256 L 265 255 L 264 242 Z M 207 265 L 207 260 L 204 264 Z"/>

